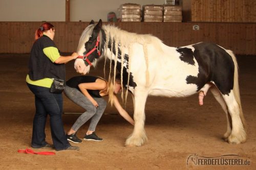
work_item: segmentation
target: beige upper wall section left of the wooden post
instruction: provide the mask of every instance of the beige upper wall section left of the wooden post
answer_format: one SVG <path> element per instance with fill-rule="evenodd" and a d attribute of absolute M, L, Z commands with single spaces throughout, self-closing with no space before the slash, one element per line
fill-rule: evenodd
<path fill-rule="evenodd" d="M 65 21 L 65 0 L 0 0 L 0 21 Z"/>

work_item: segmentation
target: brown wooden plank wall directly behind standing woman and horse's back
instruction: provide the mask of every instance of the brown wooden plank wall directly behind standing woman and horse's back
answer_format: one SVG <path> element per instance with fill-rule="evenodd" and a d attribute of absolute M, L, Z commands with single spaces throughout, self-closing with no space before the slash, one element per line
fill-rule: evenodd
<path fill-rule="evenodd" d="M 89 22 L 52 22 L 54 41 L 61 52 L 76 51 L 80 34 Z M 41 22 L 0 22 L 0 53 L 29 53 Z M 198 25 L 200 30 L 193 30 Z M 256 55 L 256 23 L 118 22 L 119 28 L 152 34 L 169 46 L 201 41 L 217 43 L 236 54 Z"/>

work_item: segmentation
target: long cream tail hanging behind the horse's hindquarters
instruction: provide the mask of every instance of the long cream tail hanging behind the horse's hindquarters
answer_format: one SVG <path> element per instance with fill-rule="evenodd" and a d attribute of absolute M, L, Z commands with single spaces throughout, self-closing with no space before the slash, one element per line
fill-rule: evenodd
<path fill-rule="evenodd" d="M 234 62 L 234 85 L 233 85 L 233 93 L 234 93 L 234 98 L 236 99 L 238 105 L 239 105 L 239 115 L 242 120 L 244 129 L 247 129 L 246 121 L 244 118 L 243 110 L 242 110 L 242 105 L 241 105 L 241 100 L 240 100 L 240 92 L 239 92 L 239 83 L 238 83 L 238 63 L 237 63 L 237 58 L 233 54 L 231 50 L 227 50 L 227 53 L 232 57 L 232 60 Z"/>

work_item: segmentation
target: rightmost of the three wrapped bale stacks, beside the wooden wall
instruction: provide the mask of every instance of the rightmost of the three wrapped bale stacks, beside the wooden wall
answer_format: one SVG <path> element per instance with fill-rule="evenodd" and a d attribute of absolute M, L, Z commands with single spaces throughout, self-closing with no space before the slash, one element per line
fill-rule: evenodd
<path fill-rule="evenodd" d="M 163 6 L 163 21 L 164 22 L 181 22 L 182 7 L 174 5 Z"/>

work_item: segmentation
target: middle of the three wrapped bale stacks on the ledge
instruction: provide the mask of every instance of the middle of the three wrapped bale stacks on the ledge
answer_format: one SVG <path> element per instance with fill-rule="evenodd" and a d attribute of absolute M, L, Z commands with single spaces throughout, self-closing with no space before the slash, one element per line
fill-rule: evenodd
<path fill-rule="evenodd" d="M 142 20 L 144 22 L 162 22 L 163 21 L 163 6 L 145 5 L 142 9 Z"/>

